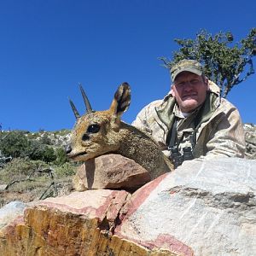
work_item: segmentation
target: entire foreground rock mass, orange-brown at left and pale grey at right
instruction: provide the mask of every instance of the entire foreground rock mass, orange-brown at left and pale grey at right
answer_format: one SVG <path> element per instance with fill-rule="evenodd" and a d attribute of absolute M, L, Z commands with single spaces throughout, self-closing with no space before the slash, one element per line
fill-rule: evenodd
<path fill-rule="evenodd" d="M 192 160 L 138 189 L 38 201 L 0 230 L 3 255 L 255 255 L 256 160 Z"/>

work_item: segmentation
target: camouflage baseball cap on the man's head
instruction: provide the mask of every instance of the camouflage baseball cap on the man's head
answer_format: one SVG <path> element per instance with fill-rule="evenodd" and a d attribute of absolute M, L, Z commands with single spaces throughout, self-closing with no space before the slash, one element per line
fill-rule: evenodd
<path fill-rule="evenodd" d="M 177 64 L 175 64 L 171 68 L 172 82 L 176 79 L 176 77 L 179 73 L 182 73 L 184 71 L 195 73 L 199 76 L 201 76 L 201 74 L 203 73 L 201 64 L 198 61 L 182 60 L 182 61 L 177 62 Z"/>

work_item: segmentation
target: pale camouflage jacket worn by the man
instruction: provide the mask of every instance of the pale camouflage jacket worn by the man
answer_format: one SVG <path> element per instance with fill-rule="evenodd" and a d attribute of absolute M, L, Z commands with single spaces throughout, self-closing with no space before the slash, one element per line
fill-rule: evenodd
<path fill-rule="evenodd" d="M 238 110 L 230 102 L 219 97 L 218 85 L 209 81 L 206 109 L 196 109 L 184 118 L 177 108 L 175 99 L 168 94 L 163 100 L 154 101 L 144 107 L 131 125 L 147 132 L 159 143 L 163 152 L 169 156 L 168 144 L 173 120 L 178 119 L 177 138 L 179 149 L 191 145 L 195 133 L 195 158 L 215 156 L 244 157 L 245 136 Z M 201 107 L 202 108 L 202 107 Z M 195 116 L 201 111 L 199 124 L 195 127 Z M 189 144 L 190 143 L 190 144 Z"/>

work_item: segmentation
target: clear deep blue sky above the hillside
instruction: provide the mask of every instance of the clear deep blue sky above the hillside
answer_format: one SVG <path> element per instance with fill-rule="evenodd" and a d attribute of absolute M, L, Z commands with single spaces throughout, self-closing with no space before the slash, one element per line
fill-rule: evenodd
<path fill-rule="evenodd" d="M 131 84 L 123 116 L 131 123 L 170 90 L 159 57 L 172 57 L 174 38 L 206 29 L 230 31 L 240 41 L 256 26 L 255 14 L 253 0 L 0 0 L 3 130 L 71 129 L 68 97 L 84 113 L 79 83 L 96 110 L 109 107 L 119 84 Z M 256 74 L 228 96 L 245 123 L 256 124 L 255 95 Z"/>

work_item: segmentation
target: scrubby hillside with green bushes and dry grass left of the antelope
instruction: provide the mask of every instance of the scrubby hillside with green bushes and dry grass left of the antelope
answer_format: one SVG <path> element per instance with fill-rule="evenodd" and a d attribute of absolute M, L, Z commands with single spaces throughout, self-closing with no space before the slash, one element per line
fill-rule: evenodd
<path fill-rule="evenodd" d="M 64 150 L 70 131 L 0 132 L 0 207 L 68 194 L 76 164 Z"/>

